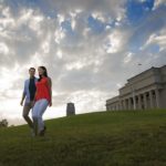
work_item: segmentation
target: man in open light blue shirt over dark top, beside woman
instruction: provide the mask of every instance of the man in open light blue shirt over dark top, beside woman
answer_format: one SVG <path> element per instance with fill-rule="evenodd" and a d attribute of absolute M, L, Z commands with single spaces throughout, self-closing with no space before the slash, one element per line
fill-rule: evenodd
<path fill-rule="evenodd" d="M 38 81 L 38 79 L 34 76 L 35 69 L 30 68 L 29 74 L 30 74 L 30 79 L 25 80 L 24 82 L 24 90 L 23 90 L 20 105 L 23 105 L 23 101 L 25 98 L 22 116 L 29 124 L 31 131 L 33 132 L 33 122 L 30 118 L 29 113 L 30 113 L 30 110 L 33 107 L 33 101 L 34 101 L 34 95 L 35 95 L 35 82 Z"/>

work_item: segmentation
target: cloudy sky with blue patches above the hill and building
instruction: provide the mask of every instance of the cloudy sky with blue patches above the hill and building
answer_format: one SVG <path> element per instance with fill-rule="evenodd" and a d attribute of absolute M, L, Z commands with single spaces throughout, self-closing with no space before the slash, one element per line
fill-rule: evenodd
<path fill-rule="evenodd" d="M 53 83 L 44 120 L 69 102 L 105 111 L 127 79 L 166 64 L 165 15 L 166 0 L 0 0 L 0 120 L 24 123 L 24 80 L 40 65 Z"/>

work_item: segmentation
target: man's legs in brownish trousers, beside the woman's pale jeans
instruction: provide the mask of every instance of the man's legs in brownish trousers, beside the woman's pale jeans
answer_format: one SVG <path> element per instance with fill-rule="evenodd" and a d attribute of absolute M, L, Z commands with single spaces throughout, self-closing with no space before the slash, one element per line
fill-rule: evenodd
<path fill-rule="evenodd" d="M 30 126 L 30 128 L 33 128 L 33 122 L 32 122 L 32 120 L 29 116 L 29 113 L 30 113 L 31 108 L 32 108 L 32 102 L 25 103 L 24 106 L 23 106 L 22 116 L 27 121 L 27 123 Z"/>

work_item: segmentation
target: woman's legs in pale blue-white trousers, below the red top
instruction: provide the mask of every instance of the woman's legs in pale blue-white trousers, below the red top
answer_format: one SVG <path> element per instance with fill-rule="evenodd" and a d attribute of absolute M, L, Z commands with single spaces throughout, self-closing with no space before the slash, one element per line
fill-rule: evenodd
<path fill-rule="evenodd" d="M 34 134 L 44 134 L 45 125 L 42 120 L 42 115 L 45 112 L 46 107 L 49 105 L 48 100 L 42 98 L 35 102 L 33 110 L 32 110 L 32 118 L 33 118 L 33 127 L 34 127 Z"/>

